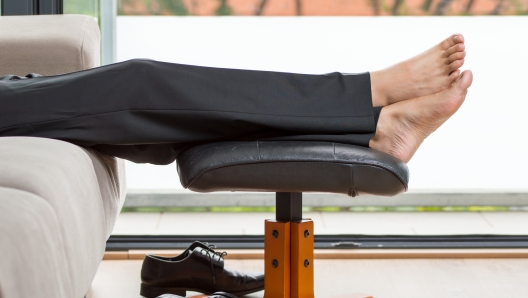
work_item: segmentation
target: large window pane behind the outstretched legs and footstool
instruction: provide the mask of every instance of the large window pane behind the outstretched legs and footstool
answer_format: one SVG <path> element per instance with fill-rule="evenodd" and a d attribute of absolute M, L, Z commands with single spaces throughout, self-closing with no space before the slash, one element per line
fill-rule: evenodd
<path fill-rule="evenodd" d="M 314 219 L 316 234 L 526 234 L 527 147 L 510 129 L 528 126 L 524 81 L 519 75 L 497 81 L 494 74 L 528 68 L 528 44 L 514 29 L 528 24 L 528 0 L 120 0 L 118 14 L 118 61 L 299 73 L 382 69 L 464 33 L 471 49 L 465 68 L 478 80 L 459 113 L 409 164 L 410 192 L 307 194 L 305 216 Z M 226 15 L 255 17 L 214 17 Z M 500 65 L 489 63 L 505 51 L 490 36 L 510 42 Z M 505 116 L 489 121 L 496 115 Z M 483 162 L 504 151 L 506 141 L 507 155 Z M 114 234 L 262 234 L 263 220 L 274 217 L 273 194 L 191 193 L 175 169 L 127 163 L 129 194 Z"/>

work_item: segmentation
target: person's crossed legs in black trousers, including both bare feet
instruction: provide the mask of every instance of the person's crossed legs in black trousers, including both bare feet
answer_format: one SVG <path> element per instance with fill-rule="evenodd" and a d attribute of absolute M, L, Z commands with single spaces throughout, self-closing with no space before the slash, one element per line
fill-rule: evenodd
<path fill-rule="evenodd" d="M 196 143 L 260 138 L 370 146 L 408 162 L 463 103 L 472 81 L 470 71 L 460 74 L 465 55 L 464 37 L 453 35 L 370 76 L 131 60 L 4 78 L 0 136 L 54 138 L 154 164 Z M 377 127 L 372 106 L 384 107 Z"/>

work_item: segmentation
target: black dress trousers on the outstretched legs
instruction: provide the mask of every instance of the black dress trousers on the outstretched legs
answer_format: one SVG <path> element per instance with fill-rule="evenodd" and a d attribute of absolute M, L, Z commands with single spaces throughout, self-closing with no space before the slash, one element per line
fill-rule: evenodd
<path fill-rule="evenodd" d="M 368 147 L 380 109 L 370 74 L 305 75 L 130 60 L 0 80 L 0 136 L 68 141 L 169 164 L 195 144 L 329 141 Z"/>

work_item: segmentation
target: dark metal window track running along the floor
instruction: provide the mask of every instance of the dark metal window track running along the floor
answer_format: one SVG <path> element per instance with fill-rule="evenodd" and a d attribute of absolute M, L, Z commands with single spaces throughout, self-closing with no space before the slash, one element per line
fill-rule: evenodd
<path fill-rule="evenodd" d="M 133 249 L 185 249 L 195 240 L 216 245 L 219 249 L 263 249 L 263 236 L 153 236 L 112 235 L 106 243 L 107 251 Z M 316 249 L 478 249 L 528 248 L 528 236 L 509 235 L 454 235 L 454 236 L 315 236 Z"/>

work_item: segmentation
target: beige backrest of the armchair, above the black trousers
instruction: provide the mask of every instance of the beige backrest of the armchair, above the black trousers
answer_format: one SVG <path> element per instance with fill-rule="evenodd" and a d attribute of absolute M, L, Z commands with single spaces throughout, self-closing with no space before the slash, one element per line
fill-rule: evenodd
<path fill-rule="evenodd" d="M 97 67 L 100 39 L 90 16 L 0 17 L 0 76 L 49 76 Z"/>

